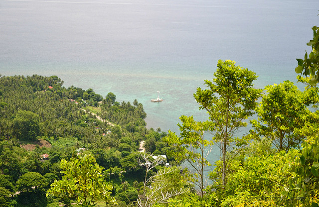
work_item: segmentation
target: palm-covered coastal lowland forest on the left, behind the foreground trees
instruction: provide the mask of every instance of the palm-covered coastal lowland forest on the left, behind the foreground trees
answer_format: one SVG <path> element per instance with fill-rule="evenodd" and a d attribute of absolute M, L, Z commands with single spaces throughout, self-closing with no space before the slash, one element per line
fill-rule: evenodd
<path fill-rule="evenodd" d="M 63 176 L 60 161 L 79 153 L 93 155 L 104 168 L 105 182 L 113 186 L 111 195 L 119 205 L 136 202 L 145 178 L 140 142 L 148 153 L 166 155 L 172 149 L 162 141 L 166 133 L 146 128 L 146 113 L 137 100 L 118 103 L 113 93 L 103 99 L 92 89 L 62 85 L 56 76 L 0 77 L 1 205 L 58 206 L 69 201 L 45 194 Z M 167 157 L 170 161 L 174 163 Z M 19 185 L 23 176 L 29 179 Z M 31 182 L 37 177 L 43 182 L 38 187 Z"/>

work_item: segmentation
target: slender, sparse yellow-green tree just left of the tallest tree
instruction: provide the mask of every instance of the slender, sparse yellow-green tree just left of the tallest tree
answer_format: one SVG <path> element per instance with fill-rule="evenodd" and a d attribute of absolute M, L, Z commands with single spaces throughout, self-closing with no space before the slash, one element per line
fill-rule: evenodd
<path fill-rule="evenodd" d="M 192 116 L 182 115 L 180 117 L 182 124 L 177 124 L 180 130 L 180 136 L 175 132 L 168 131 L 164 140 L 176 150 L 169 151 L 168 155 L 175 158 L 180 163 L 185 160 L 190 166 L 195 179 L 190 180 L 200 189 L 200 195 L 203 196 L 205 188 L 205 170 L 211 164 L 206 159 L 211 151 L 212 141 L 204 139 L 204 132 L 209 129 L 209 122 L 196 122 Z"/>

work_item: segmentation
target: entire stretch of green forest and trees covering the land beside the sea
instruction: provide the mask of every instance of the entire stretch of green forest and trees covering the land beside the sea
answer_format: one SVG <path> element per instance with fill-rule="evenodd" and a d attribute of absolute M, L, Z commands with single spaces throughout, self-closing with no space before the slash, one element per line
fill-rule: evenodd
<path fill-rule="evenodd" d="M 0 75 L 0 207 L 318 207 L 312 29 L 312 52 L 295 69 L 305 89 L 290 81 L 256 89 L 254 72 L 219 60 L 193 95 L 209 119 L 182 115 L 179 133 L 147 129 L 137 100 L 65 88 L 57 76 Z"/>

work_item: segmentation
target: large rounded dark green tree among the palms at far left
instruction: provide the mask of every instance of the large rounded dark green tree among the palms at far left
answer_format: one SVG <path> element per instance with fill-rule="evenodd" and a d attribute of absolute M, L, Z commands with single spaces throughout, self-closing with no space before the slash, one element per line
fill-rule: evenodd
<path fill-rule="evenodd" d="M 19 139 L 33 141 L 40 133 L 39 116 L 32 111 L 17 111 L 13 124 Z"/>

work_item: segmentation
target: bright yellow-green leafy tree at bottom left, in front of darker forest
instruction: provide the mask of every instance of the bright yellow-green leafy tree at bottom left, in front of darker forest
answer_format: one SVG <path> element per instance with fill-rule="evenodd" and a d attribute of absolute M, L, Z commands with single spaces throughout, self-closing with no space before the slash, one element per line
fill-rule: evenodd
<path fill-rule="evenodd" d="M 82 207 L 94 207 L 98 202 L 114 203 L 110 196 L 113 189 L 107 184 L 95 158 L 90 154 L 79 155 L 70 161 L 61 160 L 62 180 L 56 180 L 47 191 L 48 195 L 56 197 L 66 195 L 75 198 Z"/>

